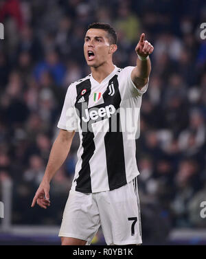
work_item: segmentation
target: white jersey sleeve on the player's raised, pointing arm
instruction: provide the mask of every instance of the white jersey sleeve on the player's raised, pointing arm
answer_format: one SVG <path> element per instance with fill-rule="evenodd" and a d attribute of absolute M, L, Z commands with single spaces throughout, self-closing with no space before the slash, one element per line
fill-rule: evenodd
<path fill-rule="evenodd" d="M 143 88 L 138 89 L 131 78 L 131 74 L 134 68 L 135 67 L 125 67 L 122 72 L 124 73 L 124 77 L 126 78 L 126 85 L 128 87 L 128 91 L 132 94 L 133 97 L 140 97 L 141 95 L 146 93 L 148 89 L 149 80 Z"/>

